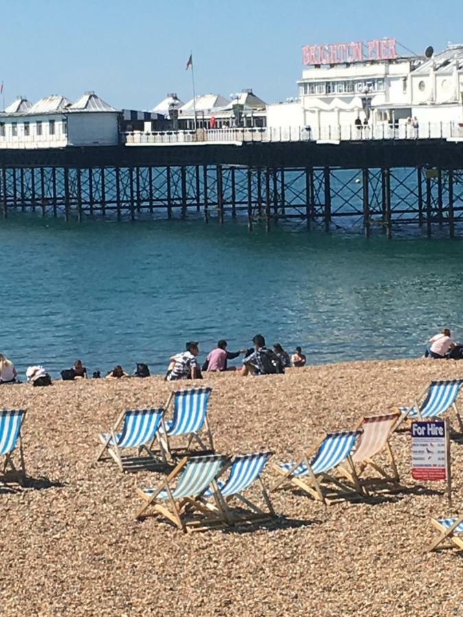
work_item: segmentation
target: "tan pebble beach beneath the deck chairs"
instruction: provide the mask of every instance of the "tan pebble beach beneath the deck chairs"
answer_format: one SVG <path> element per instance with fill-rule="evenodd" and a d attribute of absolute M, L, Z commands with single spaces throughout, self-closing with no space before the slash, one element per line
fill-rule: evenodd
<path fill-rule="evenodd" d="M 289 461 L 327 431 L 409 404 L 431 380 L 460 378 L 455 361 L 361 361 L 240 378 L 206 374 L 217 452 L 272 450 Z M 375 503 L 325 508 L 301 492 L 272 493 L 270 524 L 185 535 L 134 520 L 136 487 L 156 472 L 96 462 L 98 433 L 125 409 L 162 405 L 191 383 L 161 376 L 0 388 L 0 408 L 27 409 L 29 483 L 0 485 L 1 614 L 8 616 L 458 616 L 463 561 L 427 553 L 430 518 L 458 512 L 463 443 L 451 442 L 453 508 L 443 482 L 413 481 L 410 436 L 392 450 L 405 489 Z M 457 426 L 453 413 L 449 413 Z M 263 480 L 276 481 L 271 465 Z"/>

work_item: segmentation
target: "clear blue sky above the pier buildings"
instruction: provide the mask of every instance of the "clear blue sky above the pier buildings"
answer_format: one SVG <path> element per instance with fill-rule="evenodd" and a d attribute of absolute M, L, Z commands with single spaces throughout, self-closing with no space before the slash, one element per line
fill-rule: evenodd
<path fill-rule="evenodd" d="M 5 101 L 95 90 L 122 108 L 166 93 L 253 88 L 266 101 L 297 93 L 301 47 L 395 37 L 422 53 L 463 43 L 461 0 L 0 0 Z"/>

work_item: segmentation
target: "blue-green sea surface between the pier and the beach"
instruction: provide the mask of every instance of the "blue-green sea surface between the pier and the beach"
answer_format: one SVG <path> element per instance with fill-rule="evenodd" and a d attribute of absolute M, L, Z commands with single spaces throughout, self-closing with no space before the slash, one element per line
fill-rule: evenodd
<path fill-rule="evenodd" d="M 185 341 L 250 346 L 261 332 L 310 363 L 423 353 L 463 339 L 463 243 L 273 230 L 201 221 L 0 221 L 0 352 L 54 375 L 146 362 Z"/>

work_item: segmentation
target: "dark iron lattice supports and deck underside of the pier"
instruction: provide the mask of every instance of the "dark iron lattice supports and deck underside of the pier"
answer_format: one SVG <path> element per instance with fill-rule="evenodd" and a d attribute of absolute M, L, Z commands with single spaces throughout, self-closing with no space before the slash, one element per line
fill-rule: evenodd
<path fill-rule="evenodd" d="M 0 151 L 0 211 L 44 217 L 290 221 L 308 230 L 463 221 L 463 145 L 361 142 Z M 461 226 L 463 227 L 463 226 Z"/>

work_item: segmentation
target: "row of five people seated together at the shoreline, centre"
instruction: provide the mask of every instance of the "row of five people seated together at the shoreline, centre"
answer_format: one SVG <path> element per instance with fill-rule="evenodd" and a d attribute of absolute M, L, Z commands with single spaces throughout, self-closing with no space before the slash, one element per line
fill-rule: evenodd
<path fill-rule="evenodd" d="M 284 373 L 285 368 L 293 366 L 304 366 L 307 358 L 302 353 L 300 347 L 289 358 L 280 343 L 275 343 L 273 349 L 265 345 L 265 338 L 258 334 L 252 339 L 253 348 L 241 349 L 236 352 L 228 351 L 228 343 L 220 339 L 215 347 L 206 357 L 202 367 L 198 363 L 200 353 L 198 341 L 188 341 L 185 351 L 171 356 L 165 379 L 175 381 L 179 379 L 200 379 L 202 372 L 224 372 L 227 370 L 237 370 L 241 376 L 248 374 L 265 375 L 272 373 Z M 228 367 L 228 361 L 243 355 L 242 366 L 239 368 Z"/>

